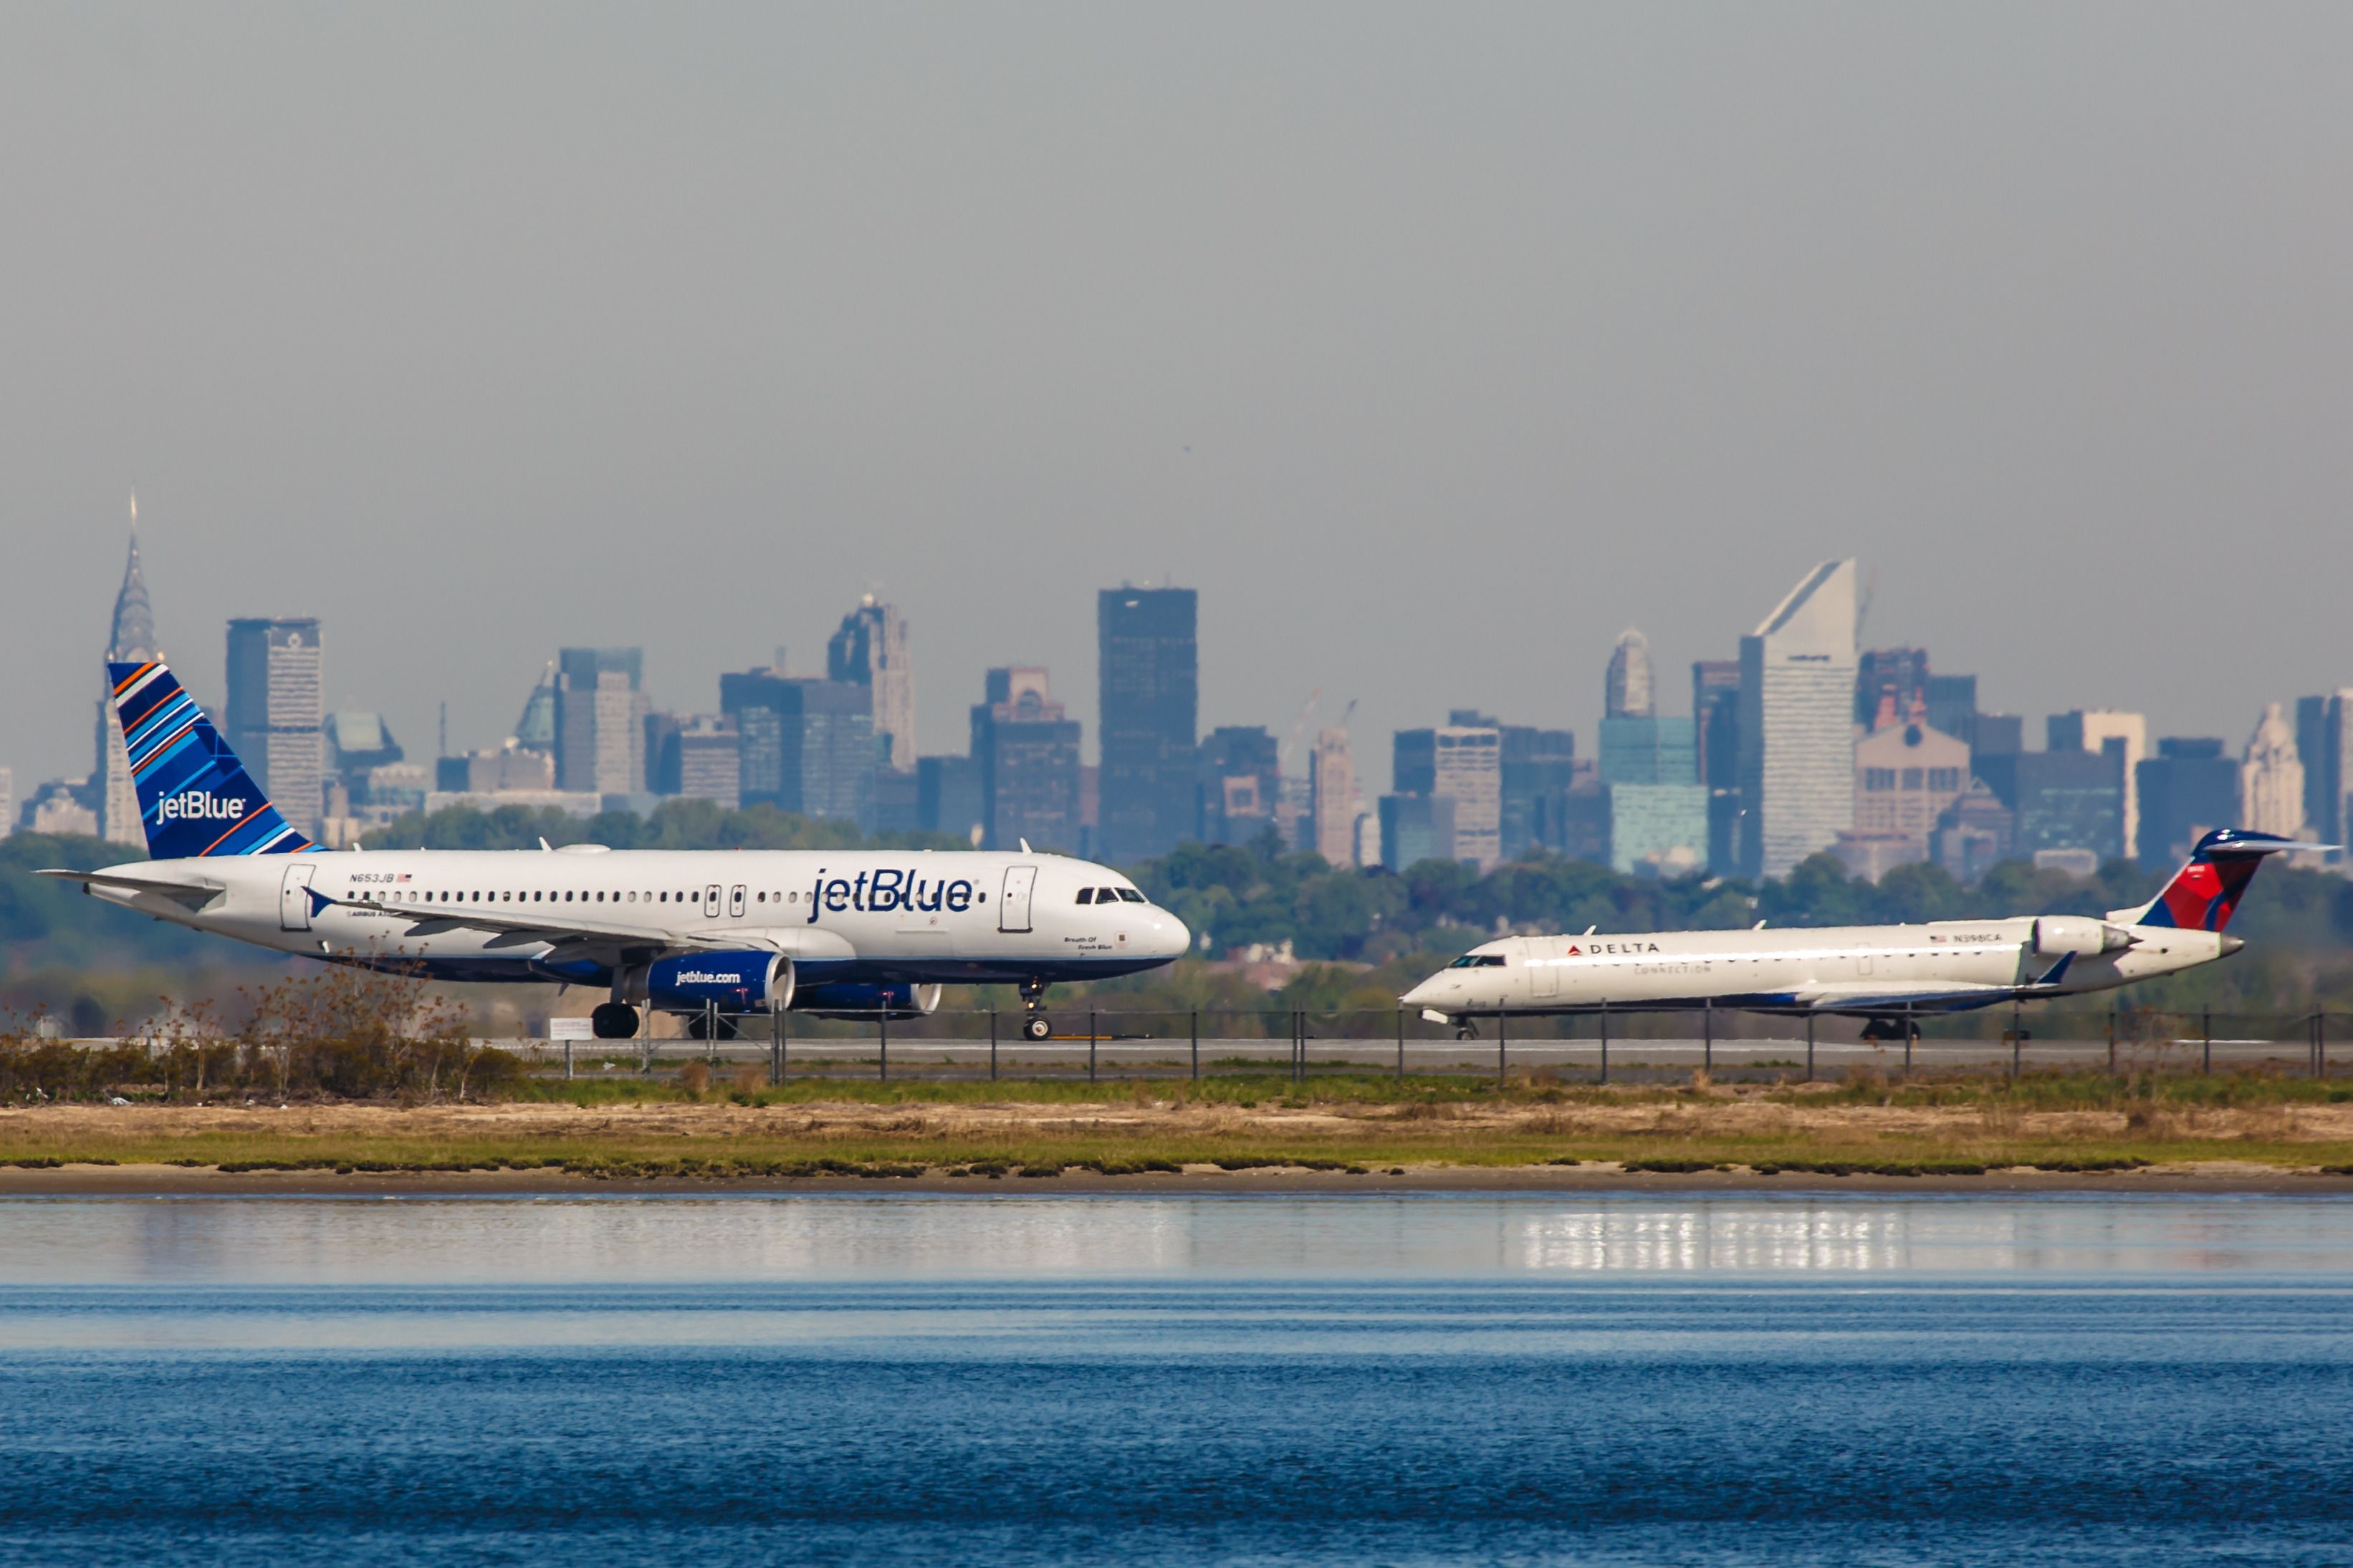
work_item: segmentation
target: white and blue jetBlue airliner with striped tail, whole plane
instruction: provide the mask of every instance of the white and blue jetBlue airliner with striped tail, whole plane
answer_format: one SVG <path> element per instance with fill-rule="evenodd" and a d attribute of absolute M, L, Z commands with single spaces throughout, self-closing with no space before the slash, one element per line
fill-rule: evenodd
<path fill-rule="evenodd" d="M 640 1009 L 734 1034 L 784 1009 L 915 1018 L 941 983 L 1158 969 L 1184 922 L 1101 865 L 981 851 L 320 851 L 261 795 L 162 663 L 108 665 L 153 860 L 47 870 L 94 898 L 332 964 L 435 980 L 600 985 L 600 1039 Z"/>

